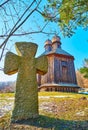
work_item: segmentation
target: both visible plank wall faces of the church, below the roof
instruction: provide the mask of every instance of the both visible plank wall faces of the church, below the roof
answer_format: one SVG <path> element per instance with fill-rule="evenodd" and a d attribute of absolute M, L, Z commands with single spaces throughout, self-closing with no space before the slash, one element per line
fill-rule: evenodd
<path fill-rule="evenodd" d="M 48 72 L 44 76 L 38 75 L 38 84 L 45 83 L 74 83 L 76 84 L 76 74 L 74 60 L 68 57 L 48 55 Z"/>

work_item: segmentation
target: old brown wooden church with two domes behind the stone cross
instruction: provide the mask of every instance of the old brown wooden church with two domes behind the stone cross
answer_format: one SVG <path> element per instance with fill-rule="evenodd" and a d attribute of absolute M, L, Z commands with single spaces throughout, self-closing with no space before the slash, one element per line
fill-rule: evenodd
<path fill-rule="evenodd" d="M 74 57 L 61 48 L 59 36 L 45 42 L 48 58 L 48 72 L 44 76 L 37 75 L 39 91 L 78 92 Z"/>

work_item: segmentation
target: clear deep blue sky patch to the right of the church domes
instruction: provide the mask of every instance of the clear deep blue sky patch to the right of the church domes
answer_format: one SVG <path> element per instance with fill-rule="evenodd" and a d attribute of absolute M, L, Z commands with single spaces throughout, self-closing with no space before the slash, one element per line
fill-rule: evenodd
<path fill-rule="evenodd" d="M 83 61 L 88 58 L 88 31 L 78 29 L 71 38 L 64 38 L 63 49 L 75 57 L 76 70 L 83 66 Z"/>

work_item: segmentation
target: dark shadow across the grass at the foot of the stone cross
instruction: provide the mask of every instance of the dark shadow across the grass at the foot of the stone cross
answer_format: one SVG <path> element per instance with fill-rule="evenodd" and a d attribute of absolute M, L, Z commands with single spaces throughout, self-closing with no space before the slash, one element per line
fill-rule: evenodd
<path fill-rule="evenodd" d="M 88 130 L 88 121 L 67 121 L 40 115 L 11 123 L 11 130 Z"/>

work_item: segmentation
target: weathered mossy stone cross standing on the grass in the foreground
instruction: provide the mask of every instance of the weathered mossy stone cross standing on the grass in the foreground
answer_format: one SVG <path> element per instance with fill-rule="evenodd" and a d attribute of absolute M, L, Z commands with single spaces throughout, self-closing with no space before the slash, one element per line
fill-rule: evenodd
<path fill-rule="evenodd" d="M 7 52 L 4 73 L 18 72 L 12 122 L 38 117 L 38 86 L 36 73 L 45 74 L 48 69 L 46 56 L 35 58 L 37 44 L 31 42 L 15 43 L 18 55 Z"/>

